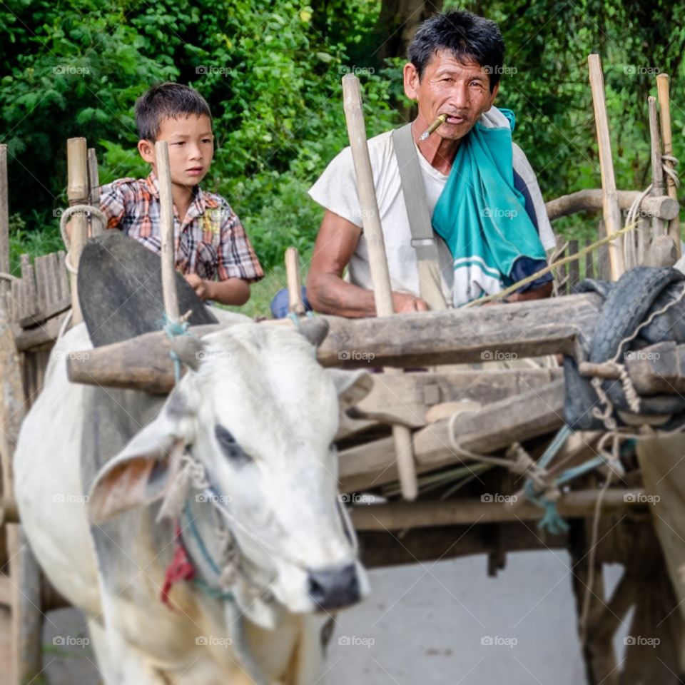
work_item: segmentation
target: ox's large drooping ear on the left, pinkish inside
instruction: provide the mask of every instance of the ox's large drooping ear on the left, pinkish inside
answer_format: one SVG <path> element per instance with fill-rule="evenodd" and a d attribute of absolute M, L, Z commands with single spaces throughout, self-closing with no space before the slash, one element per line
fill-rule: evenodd
<path fill-rule="evenodd" d="M 99 525 L 133 507 L 164 497 L 185 448 L 166 412 L 108 462 L 96 476 L 88 498 L 88 514 Z"/>

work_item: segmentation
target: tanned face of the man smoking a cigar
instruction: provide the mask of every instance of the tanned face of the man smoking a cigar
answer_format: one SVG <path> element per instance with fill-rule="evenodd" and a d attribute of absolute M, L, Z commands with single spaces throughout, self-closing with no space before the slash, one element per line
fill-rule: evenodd
<path fill-rule="evenodd" d="M 419 123 L 427 127 L 438 115 L 447 114 L 433 135 L 450 140 L 463 138 L 473 128 L 499 90 L 497 83 L 490 93 L 489 75 L 480 64 L 462 63 L 449 50 L 435 54 L 421 80 L 413 64 L 405 64 L 404 76 L 407 97 L 419 105 Z"/>

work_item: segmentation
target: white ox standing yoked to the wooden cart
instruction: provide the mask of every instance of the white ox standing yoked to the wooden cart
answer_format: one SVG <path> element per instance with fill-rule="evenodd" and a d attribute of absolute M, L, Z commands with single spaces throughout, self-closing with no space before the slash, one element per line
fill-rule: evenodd
<path fill-rule="evenodd" d="M 339 402 L 370 378 L 324 370 L 293 329 L 240 323 L 203 339 L 165 401 L 69 382 L 64 359 L 90 348 L 84 325 L 57 343 L 21 429 L 16 496 L 106 684 L 320 682 L 325 609 L 368 592 L 333 438 Z M 196 575 L 169 607 L 177 524 Z"/>

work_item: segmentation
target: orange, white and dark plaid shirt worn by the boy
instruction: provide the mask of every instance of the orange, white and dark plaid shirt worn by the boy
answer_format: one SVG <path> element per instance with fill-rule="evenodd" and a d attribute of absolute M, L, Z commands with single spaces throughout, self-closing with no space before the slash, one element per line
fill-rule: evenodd
<path fill-rule="evenodd" d="M 120 178 L 101 188 L 100 208 L 107 228 L 119 228 L 161 254 L 159 183 L 148 178 Z M 173 208 L 176 268 L 200 278 L 242 278 L 254 283 L 264 272 L 240 219 L 220 195 L 193 188 L 193 201 L 181 223 Z"/>

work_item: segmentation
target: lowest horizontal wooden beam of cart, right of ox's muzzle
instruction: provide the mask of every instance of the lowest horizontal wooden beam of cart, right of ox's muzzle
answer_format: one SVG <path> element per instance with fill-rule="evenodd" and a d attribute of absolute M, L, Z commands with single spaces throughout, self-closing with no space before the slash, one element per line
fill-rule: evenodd
<path fill-rule="evenodd" d="M 567 492 L 557 500 L 559 515 L 564 518 L 592 517 L 599 489 Z M 633 507 L 646 507 L 644 491 L 609 489 L 602 499 L 602 512 L 621 512 Z M 494 497 L 494 495 L 492 495 Z M 502 499 L 504 497 L 502 496 Z M 393 502 L 392 504 L 358 504 L 350 510 L 357 530 L 403 530 L 435 526 L 537 521 L 544 509 L 529 502 L 484 502 L 480 498 L 435 500 L 427 502 Z"/>

